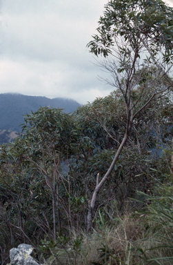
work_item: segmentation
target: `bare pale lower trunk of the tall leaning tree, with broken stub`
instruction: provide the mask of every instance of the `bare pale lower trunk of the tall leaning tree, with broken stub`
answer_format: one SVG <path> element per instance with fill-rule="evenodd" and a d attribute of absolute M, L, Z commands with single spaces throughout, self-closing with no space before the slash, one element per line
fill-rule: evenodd
<path fill-rule="evenodd" d="M 97 179 L 96 183 L 96 188 L 94 189 L 94 193 L 92 195 L 92 199 L 89 204 L 89 209 L 88 209 L 88 216 L 87 216 L 87 232 L 90 233 L 90 230 L 92 228 L 92 219 L 93 219 L 93 210 L 94 206 L 96 204 L 96 198 L 97 195 L 99 194 L 99 191 L 101 190 L 101 187 L 103 184 L 105 184 L 105 181 L 108 179 L 108 176 L 112 172 L 112 169 L 114 168 L 114 165 L 116 164 L 117 159 L 119 158 L 119 155 L 121 154 L 121 151 L 123 150 L 123 147 L 125 146 L 126 141 L 128 140 L 130 130 L 132 128 L 132 124 L 128 131 L 125 133 L 125 136 L 123 137 L 123 141 L 121 142 L 121 145 L 119 146 L 119 149 L 116 152 L 116 155 L 114 156 L 114 159 L 112 161 L 112 164 L 110 165 L 110 168 L 108 169 L 107 173 L 105 173 L 103 179 L 99 182 L 99 179 Z"/>

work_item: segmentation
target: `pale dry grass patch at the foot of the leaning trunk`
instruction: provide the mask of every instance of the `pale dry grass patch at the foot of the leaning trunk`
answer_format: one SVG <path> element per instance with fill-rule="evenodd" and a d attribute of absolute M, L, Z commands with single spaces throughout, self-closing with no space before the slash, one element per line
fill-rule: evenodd
<path fill-rule="evenodd" d="M 143 237 L 144 230 L 140 220 L 132 217 L 117 218 L 112 226 L 106 226 L 101 220 L 92 235 L 81 232 L 83 239 L 79 251 L 74 251 L 72 244 L 79 233 L 72 232 L 72 237 L 65 250 L 57 249 L 58 260 L 54 264 L 139 264 L 135 255 L 138 241 Z M 47 260 L 51 264 L 53 257 Z"/>

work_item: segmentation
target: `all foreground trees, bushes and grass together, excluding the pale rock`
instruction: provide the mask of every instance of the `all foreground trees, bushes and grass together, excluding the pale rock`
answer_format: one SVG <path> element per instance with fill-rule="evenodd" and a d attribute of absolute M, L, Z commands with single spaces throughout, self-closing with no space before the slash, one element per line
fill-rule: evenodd
<path fill-rule="evenodd" d="M 161 0 L 110 0 L 88 47 L 116 90 L 39 108 L 1 146 L 1 265 L 20 243 L 48 264 L 172 264 L 172 27 Z"/>

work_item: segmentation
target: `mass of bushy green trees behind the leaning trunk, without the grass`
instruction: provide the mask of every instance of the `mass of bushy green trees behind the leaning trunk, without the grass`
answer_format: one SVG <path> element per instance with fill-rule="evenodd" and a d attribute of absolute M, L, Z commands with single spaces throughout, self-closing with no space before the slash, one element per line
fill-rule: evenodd
<path fill-rule="evenodd" d="M 158 102 L 158 106 L 162 102 Z M 114 92 L 105 99 L 96 99 L 93 104 L 79 108 L 73 115 L 51 108 L 40 108 L 32 115 L 26 115 L 22 135 L 12 144 L 1 146 L 1 237 L 6 244 L 3 229 L 8 229 L 7 248 L 17 246 L 17 238 L 22 242 L 23 236 L 34 246 L 45 234 L 51 242 L 54 198 L 56 226 L 58 230 L 63 227 L 65 237 L 69 228 L 85 228 L 96 174 L 99 172 L 101 177 L 105 173 L 116 152 L 117 141 L 121 141 L 125 130 L 123 108 L 119 92 Z M 170 108 L 170 101 L 161 108 L 163 114 L 160 112 L 159 122 L 163 128 L 167 126 L 165 119 L 170 119 L 171 124 Z M 147 151 L 156 144 L 152 130 L 158 116 L 155 120 L 154 116 L 143 119 L 143 123 L 135 124 L 130 141 L 99 194 L 94 214 L 105 205 L 111 211 L 108 202 L 112 199 L 123 213 L 128 197 L 135 198 L 136 190 L 152 192 L 151 177 L 159 179 L 164 174 L 166 162 L 164 167 L 161 164 L 162 171 L 159 171 L 157 162 Z"/>

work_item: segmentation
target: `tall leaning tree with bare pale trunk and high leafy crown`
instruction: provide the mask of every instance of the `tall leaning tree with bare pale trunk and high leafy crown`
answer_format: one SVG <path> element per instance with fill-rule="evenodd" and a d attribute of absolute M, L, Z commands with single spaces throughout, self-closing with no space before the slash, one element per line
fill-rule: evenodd
<path fill-rule="evenodd" d="M 161 0 L 110 0 L 99 19 L 97 31 L 88 48 L 97 57 L 104 57 L 97 64 L 110 73 L 110 78 L 103 81 L 119 89 L 125 104 L 126 126 L 114 159 L 100 180 L 98 173 L 88 210 L 88 231 L 92 227 L 97 195 L 112 172 L 139 114 L 145 111 L 147 115 L 151 102 L 172 91 L 173 9 Z M 151 66 L 157 68 L 154 77 L 143 78 L 147 77 Z M 165 86 L 162 86 L 163 79 Z M 134 96 L 139 88 L 140 93 Z"/>

